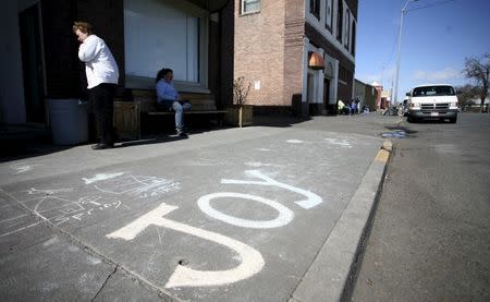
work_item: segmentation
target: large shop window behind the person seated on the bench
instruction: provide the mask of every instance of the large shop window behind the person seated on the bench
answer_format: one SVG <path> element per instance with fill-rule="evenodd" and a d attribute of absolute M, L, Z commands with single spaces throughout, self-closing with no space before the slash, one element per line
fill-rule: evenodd
<path fill-rule="evenodd" d="M 175 82 L 206 86 L 206 24 L 199 9 L 177 1 L 124 0 L 126 80 L 146 84 L 170 68 Z"/>

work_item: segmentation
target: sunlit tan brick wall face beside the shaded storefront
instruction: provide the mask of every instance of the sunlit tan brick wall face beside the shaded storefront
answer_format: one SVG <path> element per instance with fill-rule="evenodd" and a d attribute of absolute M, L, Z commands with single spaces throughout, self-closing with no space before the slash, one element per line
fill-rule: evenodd
<path fill-rule="evenodd" d="M 241 1 L 235 0 L 234 78 L 252 82 L 247 104 L 287 105 L 284 88 L 284 12 L 286 0 L 260 1 L 260 12 L 240 15 Z M 254 89 L 260 81 L 260 89 Z"/>

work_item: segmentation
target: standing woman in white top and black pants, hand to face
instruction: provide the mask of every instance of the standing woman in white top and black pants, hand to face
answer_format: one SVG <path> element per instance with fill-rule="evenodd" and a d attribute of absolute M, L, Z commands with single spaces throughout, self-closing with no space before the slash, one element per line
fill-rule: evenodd
<path fill-rule="evenodd" d="M 118 64 L 106 43 L 93 34 L 89 23 L 75 22 L 73 32 L 82 43 L 78 48 L 78 58 L 85 62 L 87 88 L 100 140 L 91 148 L 112 148 L 115 136 L 112 126 L 112 99 L 119 81 Z"/>

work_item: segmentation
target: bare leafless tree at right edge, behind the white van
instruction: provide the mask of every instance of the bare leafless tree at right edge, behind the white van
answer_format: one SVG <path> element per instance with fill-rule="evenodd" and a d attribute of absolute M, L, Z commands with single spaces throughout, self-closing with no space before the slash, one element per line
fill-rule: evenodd
<path fill-rule="evenodd" d="M 483 104 L 485 99 L 488 96 L 489 87 L 488 76 L 490 73 L 490 53 L 486 52 L 481 59 L 475 57 L 466 58 L 465 69 L 463 70 L 463 72 L 466 77 L 471 78 L 476 82 L 479 88 L 479 97 L 481 99 L 481 112 L 483 112 Z"/>

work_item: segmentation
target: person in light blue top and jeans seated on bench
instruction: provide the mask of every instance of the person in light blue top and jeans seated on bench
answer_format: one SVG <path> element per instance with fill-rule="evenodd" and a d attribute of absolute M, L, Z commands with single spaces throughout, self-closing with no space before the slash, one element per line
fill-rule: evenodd
<path fill-rule="evenodd" d="M 181 95 L 173 87 L 173 71 L 162 69 L 155 81 L 157 88 L 157 108 L 159 110 L 175 111 L 175 130 L 177 135 L 185 136 L 184 111 L 191 109 L 191 102 L 181 99 Z"/>

